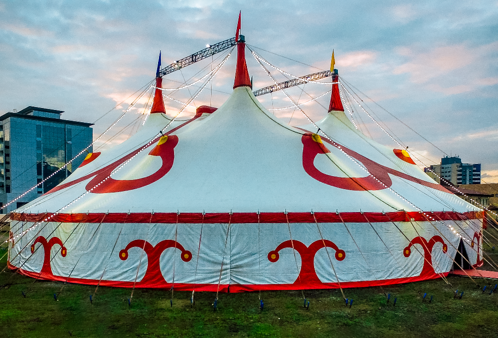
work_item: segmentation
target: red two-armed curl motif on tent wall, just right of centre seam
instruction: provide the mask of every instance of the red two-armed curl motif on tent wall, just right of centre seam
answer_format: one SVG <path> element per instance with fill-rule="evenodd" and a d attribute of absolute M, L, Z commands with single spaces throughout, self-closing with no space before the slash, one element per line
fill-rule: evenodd
<path fill-rule="evenodd" d="M 294 244 L 294 249 L 301 256 L 301 270 L 299 271 L 299 276 L 297 277 L 296 281 L 293 283 L 296 286 L 301 286 L 301 284 L 302 285 L 324 284 L 318 278 L 315 271 L 315 254 L 321 248 L 324 248 L 326 246 L 333 248 L 336 251 L 335 257 L 339 261 L 346 258 L 346 252 L 344 252 L 344 250 L 339 249 L 337 245 L 334 244 L 334 242 L 328 239 L 316 240 L 313 243 L 311 243 L 310 246 L 306 246 L 302 242 L 293 239 L 293 240 L 286 240 L 285 242 L 280 243 L 275 250 L 268 252 L 268 260 L 272 263 L 276 262 L 280 258 L 278 251 L 280 251 L 283 248 L 292 248 L 292 244 Z"/>

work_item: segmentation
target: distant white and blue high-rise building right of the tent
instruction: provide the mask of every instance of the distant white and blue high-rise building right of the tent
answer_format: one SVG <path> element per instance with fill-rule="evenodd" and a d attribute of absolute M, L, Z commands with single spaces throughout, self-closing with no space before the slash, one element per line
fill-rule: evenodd
<path fill-rule="evenodd" d="M 481 184 L 481 164 L 462 163 L 458 156 L 443 157 L 441 164 L 431 165 L 424 168 L 424 171 L 438 183 L 440 183 L 439 178 L 432 174 L 431 171 L 453 185 Z M 444 182 L 441 184 L 444 184 Z"/>

